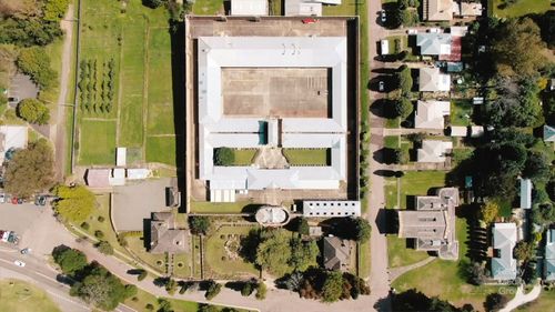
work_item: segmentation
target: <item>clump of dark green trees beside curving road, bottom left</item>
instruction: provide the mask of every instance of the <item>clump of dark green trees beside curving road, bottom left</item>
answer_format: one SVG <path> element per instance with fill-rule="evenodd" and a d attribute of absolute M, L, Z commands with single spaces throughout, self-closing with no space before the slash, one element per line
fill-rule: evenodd
<path fill-rule="evenodd" d="M 123 284 L 97 262 L 88 263 L 87 256 L 79 250 L 60 245 L 54 248 L 52 256 L 62 272 L 75 281 L 70 294 L 95 308 L 110 311 L 137 294 L 135 285 Z"/>

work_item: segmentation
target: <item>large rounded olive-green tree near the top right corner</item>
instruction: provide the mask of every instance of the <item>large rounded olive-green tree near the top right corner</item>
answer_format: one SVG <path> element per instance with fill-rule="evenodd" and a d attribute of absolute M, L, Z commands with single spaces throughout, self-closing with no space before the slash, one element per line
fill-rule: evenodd
<path fill-rule="evenodd" d="M 492 54 L 501 74 L 531 77 L 545 63 L 544 48 L 539 28 L 532 19 L 509 19 L 496 30 Z"/>

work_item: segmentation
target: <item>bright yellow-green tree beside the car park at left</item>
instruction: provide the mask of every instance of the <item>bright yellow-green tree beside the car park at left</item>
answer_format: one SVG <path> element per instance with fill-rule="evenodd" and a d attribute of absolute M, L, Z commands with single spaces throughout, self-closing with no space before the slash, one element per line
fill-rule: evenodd
<path fill-rule="evenodd" d="M 83 185 L 58 185 L 54 194 L 60 198 L 54 202 L 56 212 L 70 222 L 83 222 L 97 205 L 94 194 Z"/>

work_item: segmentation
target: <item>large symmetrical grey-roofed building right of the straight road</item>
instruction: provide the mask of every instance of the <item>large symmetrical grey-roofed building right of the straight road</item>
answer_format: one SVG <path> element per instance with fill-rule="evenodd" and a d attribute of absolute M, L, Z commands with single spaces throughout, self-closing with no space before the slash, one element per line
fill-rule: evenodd
<path fill-rule="evenodd" d="M 441 259 L 458 259 L 455 208 L 458 189 L 443 188 L 437 195 L 416 197 L 416 210 L 398 212 L 398 236 L 413 239 L 416 250 L 436 252 Z"/>

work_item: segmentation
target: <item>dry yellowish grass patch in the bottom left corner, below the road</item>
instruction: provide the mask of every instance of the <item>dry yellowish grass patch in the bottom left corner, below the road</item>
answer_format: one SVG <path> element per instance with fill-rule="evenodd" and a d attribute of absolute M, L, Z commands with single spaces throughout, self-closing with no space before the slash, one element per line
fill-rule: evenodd
<path fill-rule="evenodd" d="M 0 280 L 0 311 L 41 312 L 61 311 L 47 293 L 20 280 Z"/>

